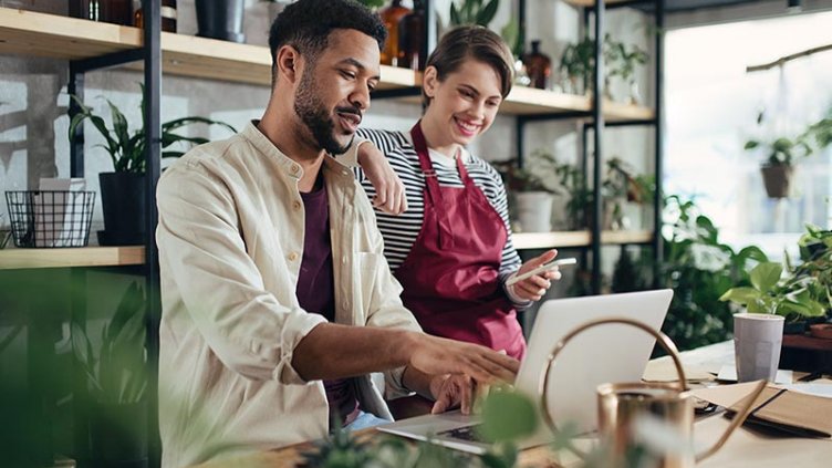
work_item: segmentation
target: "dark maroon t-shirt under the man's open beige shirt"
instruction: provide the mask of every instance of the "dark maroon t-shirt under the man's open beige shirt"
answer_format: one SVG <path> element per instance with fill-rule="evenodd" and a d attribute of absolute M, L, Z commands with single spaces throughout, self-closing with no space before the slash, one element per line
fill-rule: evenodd
<path fill-rule="evenodd" d="M 306 214 L 303 237 L 303 260 L 295 293 L 306 312 L 319 313 L 335 322 L 335 285 L 332 271 L 332 240 L 330 239 L 330 205 L 326 186 L 321 177 L 309 194 L 301 193 Z M 358 402 L 351 378 L 324 381 L 330 404 L 330 423 L 352 423 L 358 414 Z"/>

